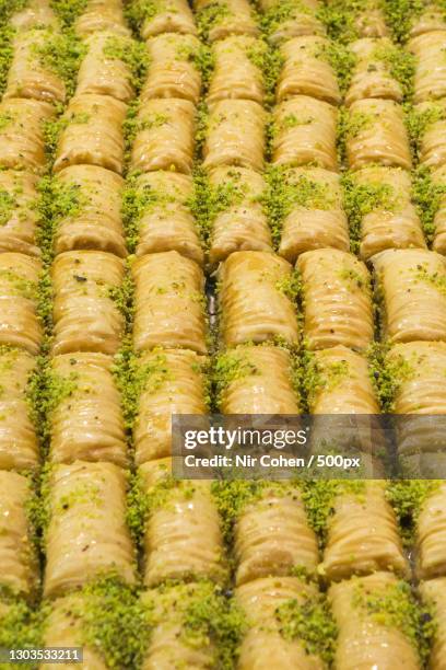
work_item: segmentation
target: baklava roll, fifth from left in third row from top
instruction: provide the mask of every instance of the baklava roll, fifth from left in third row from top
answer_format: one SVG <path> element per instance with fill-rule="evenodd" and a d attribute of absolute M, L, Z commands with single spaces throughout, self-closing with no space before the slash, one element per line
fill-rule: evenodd
<path fill-rule="evenodd" d="M 317 165 L 338 171 L 337 109 L 328 103 L 296 95 L 274 108 L 272 162 Z"/>

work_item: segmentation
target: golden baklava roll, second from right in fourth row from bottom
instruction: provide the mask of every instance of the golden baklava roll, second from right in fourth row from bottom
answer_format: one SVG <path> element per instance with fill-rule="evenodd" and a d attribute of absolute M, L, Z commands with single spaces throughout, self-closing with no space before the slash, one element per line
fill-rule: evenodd
<path fill-rule="evenodd" d="M 308 347 L 344 345 L 366 349 L 374 325 L 371 278 L 365 265 L 352 254 L 320 249 L 302 254 L 297 269 L 303 280 Z"/>

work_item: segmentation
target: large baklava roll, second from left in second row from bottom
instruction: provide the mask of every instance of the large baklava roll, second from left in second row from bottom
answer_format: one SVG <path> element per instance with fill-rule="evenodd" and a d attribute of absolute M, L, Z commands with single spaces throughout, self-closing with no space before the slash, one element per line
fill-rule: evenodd
<path fill-rule="evenodd" d="M 109 573 L 134 584 L 134 551 L 126 527 L 126 472 L 113 463 L 55 465 L 49 478 L 45 597 Z"/>

